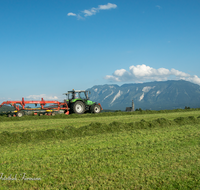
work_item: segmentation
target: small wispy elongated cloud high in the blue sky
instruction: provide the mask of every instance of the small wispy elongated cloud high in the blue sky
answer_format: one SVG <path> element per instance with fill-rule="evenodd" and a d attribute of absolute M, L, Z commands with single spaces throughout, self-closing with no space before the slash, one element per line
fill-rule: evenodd
<path fill-rule="evenodd" d="M 92 7 L 91 9 L 86 9 L 84 11 L 81 11 L 81 13 L 79 14 L 70 12 L 67 14 L 67 16 L 76 16 L 77 19 L 83 19 L 83 17 L 95 15 L 100 10 L 109 10 L 109 9 L 115 9 L 115 8 L 117 8 L 116 4 L 108 3 L 106 5 L 99 5 L 97 8 Z M 81 14 L 83 14 L 83 17 L 81 16 Z"/>

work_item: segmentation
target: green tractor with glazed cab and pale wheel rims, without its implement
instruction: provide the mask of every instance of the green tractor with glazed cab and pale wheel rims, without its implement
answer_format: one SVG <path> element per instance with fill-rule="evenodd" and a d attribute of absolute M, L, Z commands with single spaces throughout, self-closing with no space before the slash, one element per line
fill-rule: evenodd
<path fill-rule="evenodd" d="M 65 93 L 67 100 L 65 100 L 70 108 L 70 113 L 83 114 L 100 113 L 102 109 L 101 104 L 89 100 L 89 91 L 86 90 L 72 90 Z"/>

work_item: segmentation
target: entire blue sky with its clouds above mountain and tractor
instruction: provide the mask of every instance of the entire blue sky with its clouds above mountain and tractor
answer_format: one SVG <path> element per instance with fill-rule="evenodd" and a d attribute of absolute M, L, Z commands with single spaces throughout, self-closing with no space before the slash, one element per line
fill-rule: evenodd
<path fill-rule="evenodd" d="M 200 85 L 199 0 L 0 0 L 0 102 L 94 85 Z"/>

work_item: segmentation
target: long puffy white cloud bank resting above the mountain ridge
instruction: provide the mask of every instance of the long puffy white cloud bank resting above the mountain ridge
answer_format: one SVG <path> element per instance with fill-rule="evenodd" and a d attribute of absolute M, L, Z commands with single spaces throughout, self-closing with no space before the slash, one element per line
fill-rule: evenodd
<path fill-rule="evenodd" d="M 147 65 L 132 65 L 129 71 L 125 69 L 116 70 L 112 75 L 106 75 L 105 79 L 115 82 L 145 82 L 145 81 L 164 81 L 164 80 L 186 80 L 200 85 L 198 76 L 190 75 L 176 69 L 159 68 L 154 69 Z"/>

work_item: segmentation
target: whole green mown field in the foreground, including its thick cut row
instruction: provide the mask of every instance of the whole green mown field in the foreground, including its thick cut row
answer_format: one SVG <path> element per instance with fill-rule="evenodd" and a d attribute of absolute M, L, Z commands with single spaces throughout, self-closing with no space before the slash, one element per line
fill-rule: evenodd
<path fill-rule="evenodd" d="M 1 121 L 0 189 L 200 189 L 199 116 Z"/>

